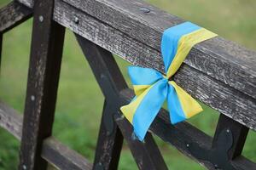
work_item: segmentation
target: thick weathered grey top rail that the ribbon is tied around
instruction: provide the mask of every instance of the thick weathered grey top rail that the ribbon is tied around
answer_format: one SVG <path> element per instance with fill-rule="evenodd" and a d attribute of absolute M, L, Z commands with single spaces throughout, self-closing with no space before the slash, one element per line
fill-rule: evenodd
<path fill-rule="evenodd" d="M 183 20 L 135 0 L 65 2 L 55 0 L 54 20 L 62 26 L 133 65 L 163 71 L 162 32 Z M 151 12 L 145 14 L 141 7 Z M 255 130 L 255 59 L 253 51 L 212 38 L 191 50 L 175 80 L 196 99 Z"/>

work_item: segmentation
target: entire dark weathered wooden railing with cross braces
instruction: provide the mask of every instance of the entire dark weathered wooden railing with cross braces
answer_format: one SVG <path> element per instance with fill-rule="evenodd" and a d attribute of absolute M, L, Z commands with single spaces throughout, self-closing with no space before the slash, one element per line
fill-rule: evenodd
<path fill-rule="evenodd" d="M 67 170 L 117 169 L 123 138 L 139 169 L 167 169 L 151 133 L 208 169 L 256 169 L 241 156 L 249 128 L 256 130 L 255 52 L 215 37 L 195 45 L 174 77 L 219 111 L 213 139 L 188 122 L 173 126 L 161 110 L 140 142 L 119 111 L 134 94 L 112 54 L 163 72 L 161 35 L 183 20 L 140 0 L 17 0 L 0 9 L 0 45 L 4 32 L 32 16 L 24 117 L 0 103 L 0 125 L 21 141 L 20 170 L 45 170 L 47 162 Z M 75 33 L 105 96 L 93 164 L 51 136 L 65 28 Z"/>

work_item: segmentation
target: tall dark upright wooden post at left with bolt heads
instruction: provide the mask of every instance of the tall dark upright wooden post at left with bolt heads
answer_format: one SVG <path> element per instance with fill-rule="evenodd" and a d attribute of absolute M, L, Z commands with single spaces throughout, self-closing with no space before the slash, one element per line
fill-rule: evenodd
<path fill-rule="evenodd" d="M 54 2 L 36 1 L 19 169 L 47 168 L 40 156 L 51 135 L 65 28 L 52 20 Z"/>

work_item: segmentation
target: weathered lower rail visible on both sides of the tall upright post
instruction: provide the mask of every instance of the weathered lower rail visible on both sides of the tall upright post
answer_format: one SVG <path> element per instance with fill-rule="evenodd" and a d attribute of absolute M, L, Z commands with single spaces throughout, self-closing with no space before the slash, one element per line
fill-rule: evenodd
<path fill-rule="evenodd" d="M 0 127 L 20 140 L 22 132 L 22 115 L 0 100 Z M 42 157 L 55 167 L 63 170 L 92 169 L 92 165 L 83 156 L 70 150 L 53 137 L 44 140 Z"/>

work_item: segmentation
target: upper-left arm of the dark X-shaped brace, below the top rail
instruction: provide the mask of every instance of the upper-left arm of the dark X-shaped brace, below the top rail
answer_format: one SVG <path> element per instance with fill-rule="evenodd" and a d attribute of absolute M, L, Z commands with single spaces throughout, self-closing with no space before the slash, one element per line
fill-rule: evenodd
<path fill-rule="evenodd" d="M 108 100 L 113 100 L 113 105 L 118 105 L 116 100 L 119 99 L 119 92 L 127 88 L 127 85 L 117 63 L 113 59 L 113 55 L 108 50 L 101 48 L 84 37 L 79 35 L 76 35 L 76 37 L 96 77 L 96 81 L 102 89 L 102 93 L 106 99 L 115 97 L 115 99 Z"/>

